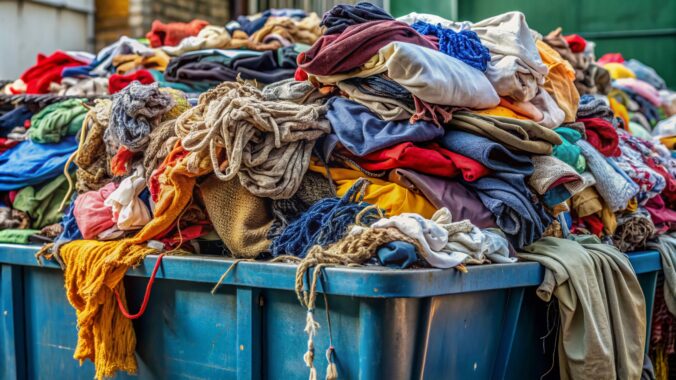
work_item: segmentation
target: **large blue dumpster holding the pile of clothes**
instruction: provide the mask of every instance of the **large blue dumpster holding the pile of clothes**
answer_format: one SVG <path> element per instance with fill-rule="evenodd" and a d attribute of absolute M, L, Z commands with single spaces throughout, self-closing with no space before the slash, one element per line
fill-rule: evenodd
<path fill-rule="evenodd" d="M 75 312 L 62 273 L 53 263 L 39 266 L 36 251 L 0 245 L 0 378 L 91 379 L 93 365 L 72 359 Z M 630 258 L 652 306 L 659 255 Z M 125 279 L 132 311 L 155 261 L 147 258 Z M 295 267 L 241 262 L 211 295 L 230 265 L 214 256 L 163 260 L 148 309 L 134 326 L 140 378 L 307 378 Z M 328 295 L 339 377 L 538 378 L 518 371 L 537 360 L 523 353 L 541 346 L 544 315 L 537 310 L 544 303 L 532 297 L 542 277 L 537 263 L 470 267 L 467 274 L 327 268 L 320 290 Z M 322 297 L 315 317 L 321 324 L 315 365 L 323 378 L 329 329 Z"/>

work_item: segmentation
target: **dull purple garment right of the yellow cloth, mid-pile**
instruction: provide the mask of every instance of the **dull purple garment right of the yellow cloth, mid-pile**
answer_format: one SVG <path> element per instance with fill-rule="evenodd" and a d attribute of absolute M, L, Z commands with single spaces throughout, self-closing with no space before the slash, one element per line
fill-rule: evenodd
<path fill-rule="evenodd" d="M 453 180 L 433 177 L 412 170 L 394 169 L 390 181 L 419 191 L 436 208 L 446 207 L 453 221 L 469 219 L 479 228 L 497 227 L 495 217 L 465 185 Z"/>

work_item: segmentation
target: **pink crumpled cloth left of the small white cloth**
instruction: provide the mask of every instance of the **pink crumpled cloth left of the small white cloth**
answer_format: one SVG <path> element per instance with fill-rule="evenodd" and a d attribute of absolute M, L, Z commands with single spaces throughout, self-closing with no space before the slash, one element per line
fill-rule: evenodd
<path fill-rule="evenodd" d="M 117 185 L 109 183 L 97 191 L 88 191 L 75 199 L 73 215 L 82 237 L 96 239 L 98 234 L 113 227 L 113 210 L 103 202 L 115 191 Z"/>

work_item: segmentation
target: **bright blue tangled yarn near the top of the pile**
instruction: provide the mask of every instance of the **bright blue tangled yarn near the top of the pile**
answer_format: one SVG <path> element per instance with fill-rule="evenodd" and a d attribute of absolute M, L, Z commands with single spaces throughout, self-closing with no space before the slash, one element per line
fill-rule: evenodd
<path fill-rule="evenodd" d="M 442 27 L 440 24 L 432 25 L 425 21 L 416 21 L 411 25 L 418 33 L 439 38 L 439 51 L 457 58 L 477 70 L 486 71 L 491 55 L 476 32 Z"/>

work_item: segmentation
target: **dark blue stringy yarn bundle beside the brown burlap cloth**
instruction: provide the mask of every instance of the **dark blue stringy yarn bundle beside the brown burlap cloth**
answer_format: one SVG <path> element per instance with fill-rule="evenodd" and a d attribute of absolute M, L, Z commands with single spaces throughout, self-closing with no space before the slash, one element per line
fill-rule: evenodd
<path fill-rule="evenodd" d="M 362 212 L 362 223 L 374 222 L 379 213 L 362 202 L 365 185 L 364 180 L 357 181 L 342 198 L 324 198 L 313 204 L 272 242 L 272 256 L 303 258 L 314 245 L 326 247 L 335 243 L 343 238 Z"/>

